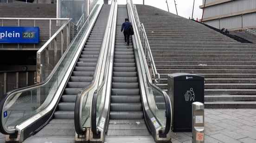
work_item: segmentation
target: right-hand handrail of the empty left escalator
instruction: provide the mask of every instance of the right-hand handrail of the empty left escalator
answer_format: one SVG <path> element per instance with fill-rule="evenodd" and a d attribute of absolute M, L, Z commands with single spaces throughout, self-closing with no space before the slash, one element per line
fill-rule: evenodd
<path fill-rule="evenodd" d="M 111 16 L 111 12 L 113 11 L 112 10 L 113 6 L 114 5 L 111 5 L 109 17 Z M 111 20 L 111 18 L 108 18 L 108 21 L 109 20 Z M 104 34 L 103 41 L 102 41 L 102 46 L 101 46 L 102 50 L 109 47 L 108 44 L 106 44 L 106 43 L 108 43 L 107 39 L 109 38 L 109 36 L 108 36 L 109 32 L 111 32 L 111 31 L 109 30 L 109 22 L 108 22 L 107 25 L 106 25 L 105 34 Z M 102 63 L 103 63 L 103 61 L 102 61 Z M 96 70 L 95 70 L 94 77 L 96 75 L 98 75 L 99 73 L 101 73 L 101 70 L 102 70 L 102 67 L 101 66 L 97 66 Z M 76 102 L 75 102 L 75 117 L 74 117 L 74 119 L 75 119 L 75 130 L 76 130 L 77 134 L 83 134 L 84 131 L 86 130 L 85 128 L 83 128 L 82 121 L 81 121 L 81 119 L 82 119 L 82 106 L 83 106 L 82 102 L 83 102 L 83 98 L 87 98 L 88 97 L 87 94 L 89 93 L 89 91 L 91 91 L 91 89 L 93 89 L 96 86 L 97 82 L 98 82 L 98 80 L 96 80 L 96 78 L 94 78 L 89 86 L 87 86 L 86 88 L 80 90 L 78 92 L 78 94 L 77 94 L 77 99 L 76 99 Z M 95 102 L 95 101 L 93 101 L 94 96 L 95 96 L 95 94 L 93 94 L 92 103 L 91 104 L 94 104 L 94 102 Z M 86 99 L 86 101 L 87 101 L 87 99 Z M 91 113 L 92 112 L 93 112 L 93 108 L 91 108 Z M 91 122 L 91 124 L 94 124 L 94 123 Z"/>

